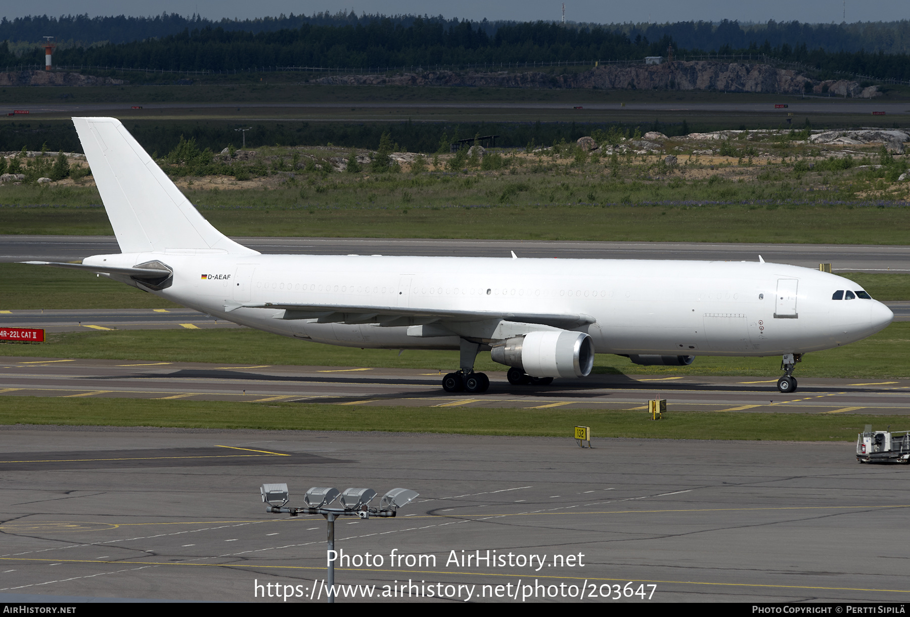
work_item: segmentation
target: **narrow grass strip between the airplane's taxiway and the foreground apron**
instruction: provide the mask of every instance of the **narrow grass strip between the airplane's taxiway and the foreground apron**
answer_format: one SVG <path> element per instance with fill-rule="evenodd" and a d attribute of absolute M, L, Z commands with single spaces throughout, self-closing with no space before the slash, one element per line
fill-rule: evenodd
<path fill-rule="evenodd" d="M 0 424 L 154 426 L 187 429 L 388 430 L 467 435 L 564 437 L 590 426 L 592 436 L 683 440 L 852 441 L 865 424 L 895 425 L 904 416 L 685 411 L 650 420 L 643 411 L 344 407 L 301 403 L 190 400 L 61 399 L 5 396 Z M 901 427 L 897 427 L 898 429 Z M 906 427 L 904 427 L 906 428 Z M 844 457 L 851 456 L 844 450 Z"/>

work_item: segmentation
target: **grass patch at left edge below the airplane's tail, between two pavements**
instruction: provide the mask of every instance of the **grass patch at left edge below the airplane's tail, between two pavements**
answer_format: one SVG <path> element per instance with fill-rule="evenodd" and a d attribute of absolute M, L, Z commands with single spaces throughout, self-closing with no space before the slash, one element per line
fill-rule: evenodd
<path fill-rule="evenodd" d="M 0 310 L 174 307 L 173 302 L 89 272 L 0 264 Z"/>

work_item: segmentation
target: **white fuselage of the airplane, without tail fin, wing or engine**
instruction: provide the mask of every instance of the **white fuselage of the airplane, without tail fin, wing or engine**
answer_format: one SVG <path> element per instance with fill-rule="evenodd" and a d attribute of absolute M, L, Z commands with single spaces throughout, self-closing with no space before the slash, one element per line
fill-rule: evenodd
<path fill-rule="evenodd" d="M 894 315 L 862 298 L 833 300 L 853 281 L 773 263 L 620 259 L 430 258 L 305 255 L 119 254 L 91 265 L 159 260 L 174 270 L 156 291 L 251 328 L 360 348 L 458 349 L 457 337 L 421 339 L 405 327 L 306 323 L 240 303 L 586 314 L 576 328 L 598 353 L 771 356 L 838 347 L 884 329 Z M 215 278 L 202 278 L 214 275 Z M 794 319 L 775 318 L 778 283 L 797 279 Z"/>

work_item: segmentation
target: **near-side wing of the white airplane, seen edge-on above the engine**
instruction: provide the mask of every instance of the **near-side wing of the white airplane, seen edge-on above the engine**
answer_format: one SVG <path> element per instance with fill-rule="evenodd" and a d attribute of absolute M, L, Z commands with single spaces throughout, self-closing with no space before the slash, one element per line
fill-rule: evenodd
<path fill-rule="evenodd" d="M 312 319 L 320 323 L 367 323 L 379 322 L 382 326 L 405 326 L 433 321 L 470 322 L 487 319 L 506 319 L 523 323 L 543 324 L 557 328 L 576 328 L 594 323 L 591 315 L 581 313 L 521 313 L 509 311 L 458 310 L 458 309 L 411 309 L 409 307 L 387 307 L 363 304 L 287 304 L 264 302 L 239 304 L 233 309 L 278 309 L 284 310 L 281 319 Z"/>

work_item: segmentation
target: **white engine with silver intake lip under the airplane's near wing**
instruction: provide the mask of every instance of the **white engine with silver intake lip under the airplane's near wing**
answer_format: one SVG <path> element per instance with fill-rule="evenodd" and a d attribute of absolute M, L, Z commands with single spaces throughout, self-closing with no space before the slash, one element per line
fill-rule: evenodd
<path fill-rule="evenodd" d="M 586 377 L 594 367 L 594 343 L 584 332 L 530 332 L 494 345 L 490 357 L 531 377 Z"/>

